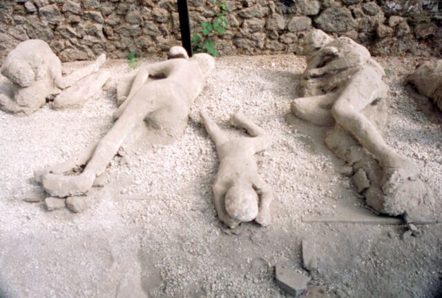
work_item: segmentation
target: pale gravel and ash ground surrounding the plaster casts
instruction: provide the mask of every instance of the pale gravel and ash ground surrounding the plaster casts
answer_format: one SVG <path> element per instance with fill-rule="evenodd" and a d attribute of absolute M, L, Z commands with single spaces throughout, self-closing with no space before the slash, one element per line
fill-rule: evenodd
<path fill-rule="evenodd" d="M 441 214 L 441 127 L 403 88 L 417 60 L 377 60 L 390 86 L 387 143 L 419 163 Z M 104 68 L 113 74 L 108 90 L 84 108 L 45 107 L 28 117 L 0 112 L 0 297 L 116 297 L 128 289 L 148 297 L 288 297 L 273 266 L 307 275 L 304 238 L 316 242 L 313 283 L 326 285 L 330 297 L 442 295 L 441 224 L 403 237 L 403 226 L 302 222 L 334 214 L 342 200 L 363 200 L 338 173 L 344 163 L 325 147 L 326 129 L 287 115 L 305 68 L 294 55 L 217 59 L 185 134 L 169 145 L 139 141 L 115 157 L 109 183 L 93 188 L 85 212 L 48 212 L 44 203 L 23 201 L 43 196 L 33 170 L 65 161 L 112 126 L 115 82 L 131 69 L 126 61 Z M 238 132 L 228 119 L 238 108 L 273 135 L 273 146 L 257 156 L 275 195 L 271 226 L 231 231 L 220 224 L 211 190 L 218 158 L 199 123 L 202 108 L 232 137 Z"/>

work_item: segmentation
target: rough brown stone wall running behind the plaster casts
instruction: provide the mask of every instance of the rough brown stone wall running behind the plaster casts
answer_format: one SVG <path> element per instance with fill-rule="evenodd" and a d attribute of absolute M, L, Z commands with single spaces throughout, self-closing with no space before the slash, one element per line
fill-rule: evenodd
<path fill-rule="evenodd" d="M 346 35 L 373 54 L 440 55 L 439 0 L 238 0 L 227 4 L 221 54 L 296 52 L 312 26 Z M 219 8 L 189 0 L 193 32 Z M 177 0 L 0 0 L 0 58 L 26 39 L 44 39 L 63 61 L 101 52 L 124 58 L 164 54 L 180 44 Z"/>

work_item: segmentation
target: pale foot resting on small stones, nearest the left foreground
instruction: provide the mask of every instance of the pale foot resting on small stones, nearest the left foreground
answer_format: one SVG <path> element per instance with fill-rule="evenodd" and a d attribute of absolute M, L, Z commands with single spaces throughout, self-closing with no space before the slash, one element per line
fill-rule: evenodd
<path fill-rule="evenodd" d="M 92 188 L 95 174 L 83 172 L 78 176 L 46 174 L 41 179 L 44 189 L 53 197 L 84 195 Z"/>

